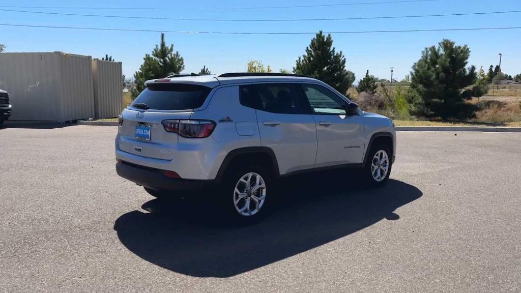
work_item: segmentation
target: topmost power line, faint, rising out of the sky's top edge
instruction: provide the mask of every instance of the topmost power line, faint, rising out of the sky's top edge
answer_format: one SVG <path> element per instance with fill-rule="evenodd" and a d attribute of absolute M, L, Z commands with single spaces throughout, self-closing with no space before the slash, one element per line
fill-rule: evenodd
<path fill-rule="evenodd" d="M 339 4 L 315 4 L 315 5 L 294 5 L 294 6 L 258 6 L 258 7 L 194 7 L 194 8 L 176 8 L 183 10 L 236 10 L 236 9 L 276 9 L 276 8 L 309 8 L 309 7 L 334 7 L 334 6 L 353 6 L 353 5 L 372 5 L 372 4 L 395 4 L 395 3 L 415 3 L 415 2 L 433 2 L 440 0 L 399 0 L 399 1 L 379 1 L 379 2 L 354 2 Z M 146 7 L 67 7 L 67 6 L 11 6 L 0 5 L 6 8 L 49 8 L 49 9 L 165 9 L 146 8 Z"/>

